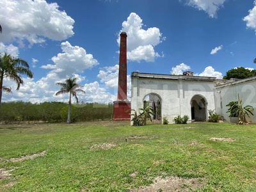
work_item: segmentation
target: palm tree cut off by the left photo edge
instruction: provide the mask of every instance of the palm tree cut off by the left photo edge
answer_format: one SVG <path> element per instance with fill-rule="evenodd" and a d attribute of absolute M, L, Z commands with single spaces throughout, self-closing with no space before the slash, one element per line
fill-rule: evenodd
<path fill-rule="evenodd" d="M 23 84 L 21 75 L 33 78 L 33 73 L 29 69 L 27 61 L 13 58 L 10 54 L 6 54 L 6 52 L 3 56 L 0 55 L 0 106 L 3 92 L 12 93 L 12 88 L 3 86 L 3 80 L 8 78 L 15 81 L 17 84 L 16 90 L 18 91 L 20 84 Z"/>

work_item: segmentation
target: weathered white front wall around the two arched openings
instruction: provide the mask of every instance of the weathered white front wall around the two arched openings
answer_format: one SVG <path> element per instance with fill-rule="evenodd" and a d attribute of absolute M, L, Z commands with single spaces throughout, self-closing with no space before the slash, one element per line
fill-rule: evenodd
<path fill-rule="evenodd" d="M 215 109 L 213 81 L 187 81 L 184 79 L 157 79 L 132 77 L 131 108 L 139 111 L 143 108 L 143 99 L 148 93 L 156 93 L 161 98 L 162 121 L 167 117 L 173 123 L 177 115 L 188 115 L 191 120 L 191 99 L 200 95 L 205 99 L 205 113 L 208 109 Z M 194 78 L 196 79 L 196 77 Z"/>

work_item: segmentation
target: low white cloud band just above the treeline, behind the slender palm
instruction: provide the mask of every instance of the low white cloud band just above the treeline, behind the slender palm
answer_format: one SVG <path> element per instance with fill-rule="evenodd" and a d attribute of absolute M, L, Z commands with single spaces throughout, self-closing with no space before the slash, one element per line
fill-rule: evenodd
<path fill-rule="evenodd" d="M 77 78 L 77 83 L 84 81 L 85 77 L 78 74 L 74 74 Z M 5 86 L 11 86 L 13 93 L 6 94 L 3 93 L 3 101 L 18 101 L 23 100 L 24 102 L 45 102 L 45 101 L 60 101 L 67 102 L 68 94 L 58 95 L 55 93 L 60 90 L 60 86 L 57 86 L 56 83 L 64 82 L 65 79 L 60 79 L 58 74 L 50 72 L 47 76 L 42 77 L 38 81 L 34 79 L 24 78 L 23 86 L 20 86 L 19 92 L 15 90 L 16 84 L 13 81 L 4 79 Z M 109 93 L 104 85 L 100 85 L 97 81 L 93 83 L 83 84 L 82 88 L 86 94 L 77 95 L 79 101 L 84 102 L 100 102 L 100 103 L 109 103 L 116 100 L 116 96 Z M 103 87 L 102 87 L 103 86 Z M 75 102 L 74 99 L 72 99 Z"/>

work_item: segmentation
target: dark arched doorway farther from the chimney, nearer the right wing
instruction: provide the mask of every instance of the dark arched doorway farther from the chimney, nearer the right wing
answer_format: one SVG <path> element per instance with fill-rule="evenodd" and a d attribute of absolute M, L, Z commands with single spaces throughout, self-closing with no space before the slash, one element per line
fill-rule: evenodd
<path fill-rule="evenodd" d="M 207 100 L 201 95 L 191 99 L 191 119 L 195 121 L 207 120 Z"/>

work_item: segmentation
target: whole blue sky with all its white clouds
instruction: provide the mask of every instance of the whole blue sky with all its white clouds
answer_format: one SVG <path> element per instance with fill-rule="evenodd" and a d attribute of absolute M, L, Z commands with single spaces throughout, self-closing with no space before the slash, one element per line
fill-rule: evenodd
<path fill-rule="evenodd" d="M 128 75 L 191 70 L 221 78 L 234 67 L 256 68 L 254 0 L 3 0 L 0 20 L 0 51 L 28 61 L 34 73 L 4 101 L 66 101 L 54 96 L 55 83 L 76 76 L 86 91 L 80 100 L 112 102 L 121 30 Z"/>

